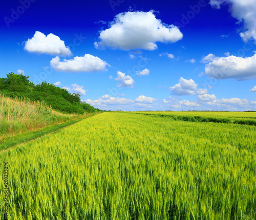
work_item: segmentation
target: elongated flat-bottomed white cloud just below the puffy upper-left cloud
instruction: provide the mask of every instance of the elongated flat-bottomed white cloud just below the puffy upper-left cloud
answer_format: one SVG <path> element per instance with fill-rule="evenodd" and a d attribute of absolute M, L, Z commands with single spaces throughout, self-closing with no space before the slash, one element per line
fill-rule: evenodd
<path fill-rule="evenodd" d="M 104 71 L 106 70 L 106 65 L 109 65 L 106 61 L 91 54 L 85 54 L 83 57 L 76 56 L 70 60 L 64 59 L 64 61 L 60 61 L 60 58 L 56 56 L 51 60 L 50 64 L 55 71 L 70 73 Z"/>

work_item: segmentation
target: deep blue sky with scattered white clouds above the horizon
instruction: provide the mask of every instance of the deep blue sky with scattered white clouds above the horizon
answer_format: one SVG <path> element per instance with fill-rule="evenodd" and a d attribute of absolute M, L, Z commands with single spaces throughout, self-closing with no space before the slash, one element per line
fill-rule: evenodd
<path fill-rule="evenodd" d="M 256 1 L 2 1 L 0 77 L 96 108 L 256 111 Z"/>

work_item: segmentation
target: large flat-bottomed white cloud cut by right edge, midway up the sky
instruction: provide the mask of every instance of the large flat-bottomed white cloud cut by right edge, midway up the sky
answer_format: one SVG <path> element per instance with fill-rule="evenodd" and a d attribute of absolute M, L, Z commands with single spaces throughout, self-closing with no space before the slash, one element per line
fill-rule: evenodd
<path fill-rule="evenodd" d="M 205 59 L 208 57 L 207 59 Z M 233 78 L 237 80 L 249 80 L 256 78 L 256 54 L 251 57 L 216 57 L 209 54 L 202 61 L 209 61 L 205 65 L 205 73 L 215 79 Z"/>

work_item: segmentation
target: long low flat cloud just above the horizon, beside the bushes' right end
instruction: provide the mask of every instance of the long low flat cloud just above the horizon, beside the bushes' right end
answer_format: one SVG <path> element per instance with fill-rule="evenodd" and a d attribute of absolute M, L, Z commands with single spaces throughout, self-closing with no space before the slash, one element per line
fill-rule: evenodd
<path fill-rule="evenodd" d="M 104 97 L 104 99 L 96 99 L 96 100 L 87 99 L 86 102 L 93 106 L 95 106 L 95 105 L 106 106 L 108 104 L 110 104 L 110 105 L 115 105 L 115 104 L 127 105 L 127 104 L 134 103 L 134 101 L 132 99 L 109 97 L 109 95 L 104 95 L 102 97 Z"/>

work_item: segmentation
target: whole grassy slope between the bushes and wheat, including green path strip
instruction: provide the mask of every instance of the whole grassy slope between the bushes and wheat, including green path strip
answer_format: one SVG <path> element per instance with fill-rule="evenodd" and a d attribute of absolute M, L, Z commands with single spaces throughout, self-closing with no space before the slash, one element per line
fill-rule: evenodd
<path fill-rule="evenodd" d="M 89 115 L 62 114 L 44 102 L 0 95 L 0 150 L 75 123 Z M 66 123 L 61 124 L 63 122 Z"/>

